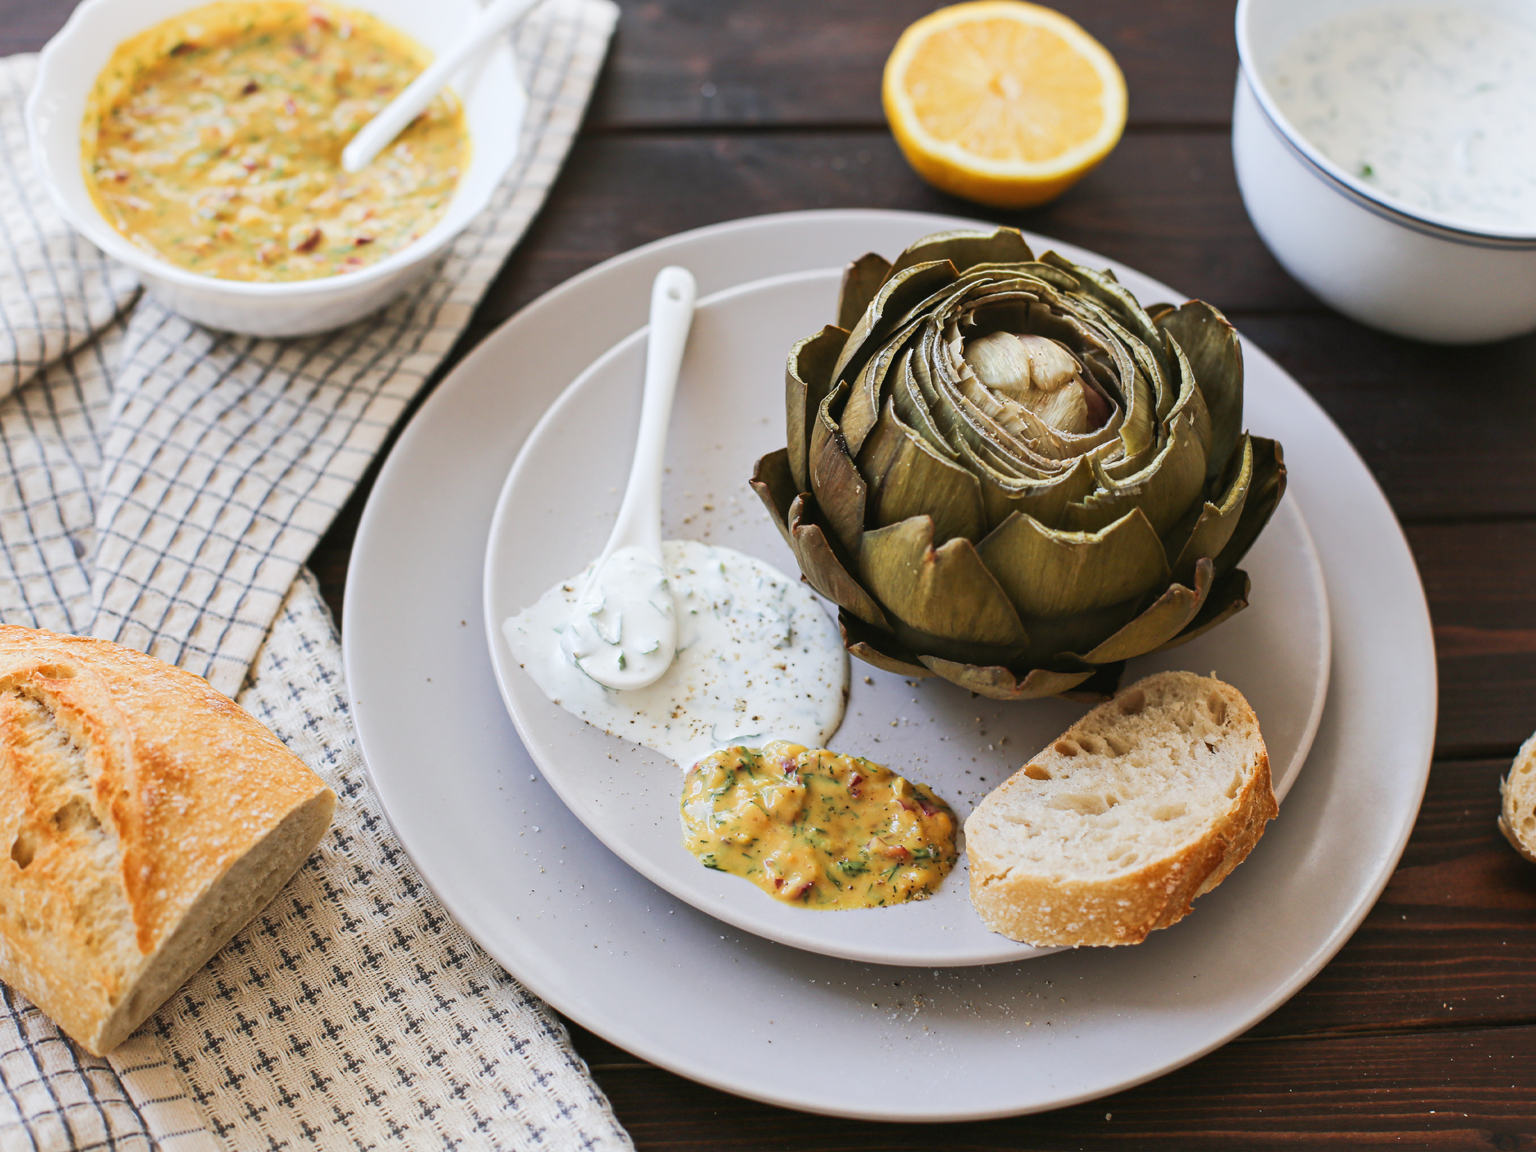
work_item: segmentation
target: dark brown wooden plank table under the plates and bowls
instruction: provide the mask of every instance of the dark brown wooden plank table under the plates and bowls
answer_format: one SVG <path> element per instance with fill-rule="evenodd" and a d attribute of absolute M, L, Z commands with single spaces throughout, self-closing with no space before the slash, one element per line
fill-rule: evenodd
<path fill-rule="evenodd" d="M 882 1126 L 737 1100 L 573 1029 L 636 1144 L 1536 1147 L 1536 866 L 1495 829 L 1499 776 L 1536 728 L 1536 338 L 1392 339 L 1279 269 L 1232 174 L 1230 0 L 1061 0 L 1124 68 L 1130 126 L 1081 184 L 1021 214 L 932 192 L 885 129 L 880 68 L 931 0 L 622 2 L 565 172 L 455 358 L 567 276 L 734 217 L 894 207 L 1060 237 L 1218 304 L 1321 401 L 1405 525 L 1441 676 L 1428 794 L 1381 903 L 1316 980 L 1221 1051 L 1046 1115 Z M 69 8 L 0 0 L 0 51 L 38 48 Z M 366 496 L 367 484 L 313 556 L 338 610 Z"/>

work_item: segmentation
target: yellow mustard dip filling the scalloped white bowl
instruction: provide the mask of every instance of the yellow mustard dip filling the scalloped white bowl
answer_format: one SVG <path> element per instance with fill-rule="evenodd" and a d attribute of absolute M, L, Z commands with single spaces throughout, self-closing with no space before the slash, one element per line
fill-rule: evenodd
<path fill-rule="evenodd" d="M 367 169 L 341 149 L 432 54 L 381 20 L 226 0 L 123 41 L 86 104 L 86 183 L 112 226 L 221 280 L 355 272 L 427 232 L 468 164 L 439 95 Z"/>

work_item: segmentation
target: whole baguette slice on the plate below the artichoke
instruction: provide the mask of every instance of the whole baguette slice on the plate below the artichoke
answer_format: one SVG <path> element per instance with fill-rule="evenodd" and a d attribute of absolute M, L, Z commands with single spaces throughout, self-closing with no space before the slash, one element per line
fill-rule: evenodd
<path fill-rule="evenodd" d="M 1258 717 L 1229 684 L 1147 676 L 965 822 L 971 903 L 1032 945 L 1135 945 L 1181 920 L 1278 814 Z"/>

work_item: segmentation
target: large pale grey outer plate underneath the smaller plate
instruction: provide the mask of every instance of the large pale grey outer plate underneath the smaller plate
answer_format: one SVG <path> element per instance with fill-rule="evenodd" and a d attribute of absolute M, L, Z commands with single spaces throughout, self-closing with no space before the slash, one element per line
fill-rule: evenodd
<path fill-rule="evenodd" d="M 422 406 L 352 553 L 343 639 L 370 779 L 433 891 L 527 988 L 680 1075 L 788 1107 L 962 1120 L 1104 1095 L 1187 1063 L 1304 985 L 1375 903 L 1428 774 L 1435 662 L 1424 593 L 1364 464 L 1249 346 L 1286 445 L 1333 621 L 1322 723 L 1261 852 L 1138 948 L 912 969 L 722 925 L 604 848 L 542 780 L 496 691 L 481 551 L 539 415 L 645 323 L 651 278 L 708 295 L 895 252 L 968 221 L 808 212 L 723 224 L 607 261 L 524 309 Z M 1287 498 L 1289 499 L 1289 498 Z M 1233 621 L 1230 627 L 1236 627 Z M 541 779 L 531 779 L 531 777 Z"/>

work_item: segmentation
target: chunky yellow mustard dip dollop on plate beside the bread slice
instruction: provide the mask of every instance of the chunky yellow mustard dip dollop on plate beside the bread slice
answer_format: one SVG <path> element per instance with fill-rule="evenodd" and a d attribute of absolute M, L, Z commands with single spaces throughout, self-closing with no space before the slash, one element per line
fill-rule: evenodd
<path fill-rule="evenodd" d="M 682 826 L 705 868 L 805 908 L 922 900 L 955 862 L 955 817 L 931 788 L 783 740 L 725 748 L 690 768 Z"/>

